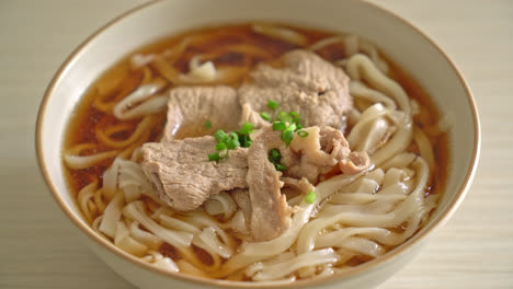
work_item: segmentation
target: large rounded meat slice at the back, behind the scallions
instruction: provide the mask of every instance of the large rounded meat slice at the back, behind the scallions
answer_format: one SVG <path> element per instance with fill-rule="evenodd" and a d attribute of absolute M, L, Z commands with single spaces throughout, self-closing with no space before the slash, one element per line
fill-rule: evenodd
<path fill-rule="evenodd" d="M 267 101 L 274 100 L 280 103 L 276 111 L 299 113 L 305 127 L 340 127 L 352 105 L 349 78 L 342 69 L 306 50 L 287 53 L 280 62 L 278 67 L 259 65 L 239 88 L 240 104 L 254 112 L 244 115 L 263 122 L 259 113 L 270 112 Z"/>

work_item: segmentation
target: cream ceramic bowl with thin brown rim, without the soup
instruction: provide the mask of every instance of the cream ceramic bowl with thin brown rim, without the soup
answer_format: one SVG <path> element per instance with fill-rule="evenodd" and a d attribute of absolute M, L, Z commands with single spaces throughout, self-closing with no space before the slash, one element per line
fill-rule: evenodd
<path fill-rule="evenodd" d="M 411 24 L 375 4 L 357 0 L 172 0 L 129 11 L 87 39 L 59 69 L 43 99 L 36 149 L 46 183 L 83 240 L 109 266 L 141 288 L 262 287 L 171 274 L 121 251 L 92 231 L 66 187 L 60 161 L 67 120 L 86 89 L 123 56 L 164 36 L 205 24 L 271 20 L 364 36 L 410 72 L 454 122 L 449 131 L 446 190 L 429 223 L 392 252 L 356 270 L 322 280 L 265 288 L 372 288 L 404 266 L 456 210 L 472 180 L 480 147 L 479 120 L 471 93 L 441 48 Z M 414 287 L 414 285 L 412 285 Z"/>

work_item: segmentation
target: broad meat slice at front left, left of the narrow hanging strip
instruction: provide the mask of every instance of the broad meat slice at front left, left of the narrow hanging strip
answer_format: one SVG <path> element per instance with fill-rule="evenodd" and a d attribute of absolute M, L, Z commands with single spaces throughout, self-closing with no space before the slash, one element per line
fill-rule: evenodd
<path fill-rule="evenodd" d="M 217 163 L 207 157 L 215 144 L 214 137 L 206 136 L 142 146 L 142 170 L 171 208 L 196 209 L 210 195 L 248 186 L 248 149 L 231 150 Z"/>

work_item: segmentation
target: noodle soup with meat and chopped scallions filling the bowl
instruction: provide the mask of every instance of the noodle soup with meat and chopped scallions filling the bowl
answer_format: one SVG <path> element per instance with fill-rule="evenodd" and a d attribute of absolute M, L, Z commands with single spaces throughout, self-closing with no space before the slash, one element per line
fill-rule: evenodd
<path fill-rule="evenodd" d="M 170 271 L 288 282 L 419 231 L 442 194 L 445 126 L 358 36 L 225 25 L 106 71 L 62 160 L 83 218 L 121 250 Z"/>

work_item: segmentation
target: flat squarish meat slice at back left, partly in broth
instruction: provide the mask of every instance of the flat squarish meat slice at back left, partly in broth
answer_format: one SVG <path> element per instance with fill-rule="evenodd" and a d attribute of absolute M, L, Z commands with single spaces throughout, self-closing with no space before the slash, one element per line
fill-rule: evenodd
<path fill-rule="evenodd" d="M 186 86 L 172 89 L 168 102 L 164 140 L 202 136 L 223 128 L 237 129 L 241 108 L 230 86 Z M 209 120 L 212 129 L 203 124 Z"/>

